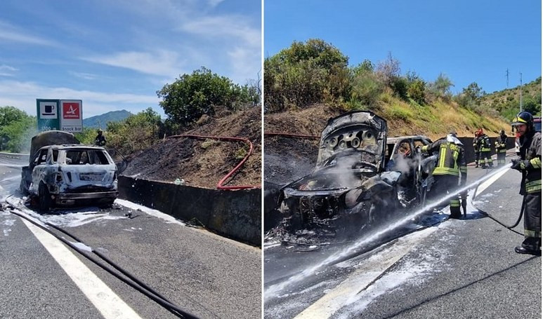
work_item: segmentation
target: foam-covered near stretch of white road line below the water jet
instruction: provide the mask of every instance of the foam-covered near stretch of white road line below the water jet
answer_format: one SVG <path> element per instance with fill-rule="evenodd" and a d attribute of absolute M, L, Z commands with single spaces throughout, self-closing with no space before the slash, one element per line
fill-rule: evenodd
<path fill-rule="evenodd" d="M 358 269 L 348 276 L 346 280 L 333 290 L 327 292 L 324 297 L 318 299 L 318 301 L 294 318 L 329 318 L 340 308 L 348 304 L 348 301 L 355 298 L 357 294 L 360 294 L 362 290 L 372 285 L 375 278 L 398 262 L 412 247 L 434 231 L 436 231 L 436 228 L 428 228 L 400 238 L 398 243 L 392 247 L 388 247 L 384 252 L 376 254 L 362 262 L 358 266 Z"/>

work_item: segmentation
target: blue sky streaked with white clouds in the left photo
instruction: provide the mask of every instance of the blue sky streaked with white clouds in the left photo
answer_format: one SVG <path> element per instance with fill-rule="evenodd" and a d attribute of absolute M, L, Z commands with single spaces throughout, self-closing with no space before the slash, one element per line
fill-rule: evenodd
<path fill-rule="evenodd" d="M 261 2 L 2 0 L 0 106 L 83 100 L 84 118 L 152 107 L 204 66 L 235 83 L 261 71 Z"/>

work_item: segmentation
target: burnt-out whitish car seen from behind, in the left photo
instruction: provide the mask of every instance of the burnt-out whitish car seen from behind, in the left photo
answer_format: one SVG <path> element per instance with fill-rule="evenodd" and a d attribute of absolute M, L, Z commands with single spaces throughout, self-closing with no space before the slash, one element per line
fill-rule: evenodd
<path fill-rule="evenodd" d="M 40 136 L 44 134 L 46 138 Z M 67 134 L 40 133 L 32 146 L 70 140 Z M 47 145 L 37 149 L 30 156 L 30 165 L 22 168 L 21 191 L 38 198 L 40 210 L 76 203 L 109 206 L 119 194 L 117 166 L 103 147 Z"/>

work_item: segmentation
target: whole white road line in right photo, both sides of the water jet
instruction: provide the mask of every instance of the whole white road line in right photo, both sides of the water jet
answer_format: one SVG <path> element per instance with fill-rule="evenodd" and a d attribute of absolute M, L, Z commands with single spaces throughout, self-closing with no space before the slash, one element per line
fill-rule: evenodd
<path fill-rule="evenodd" d="M 485 189 L 488 188 L 488 186 L 496 182 L 497 179 L 499 179 L 499 177 L 502 177 L 506 172 L 509 172 L 509 170 L 504 170 L 503 172 L 499 172 L 496 175 L 487 179 L 485 182 L 481 183 L 478 186 L 478 193 L 479 194 L 482 193 Z M 426 233 L 426 230 L 420 231 L 420 233 L 424 234 Z M 435 229 L 433 229 L 432 232 L 434 230 Z M 426 236 L 428 236 L 430 233 L 431 232 L 428 232 Z M 426 237 L 426 236 L 422 236 L 422 237 Z M 385 260 L 380 265 L 378 264 L 376 266 L 375 264 L 372 264 L 372 263 L 362 264 L 360 269 L 357 269 L 346 280 L 340 283 L 333 290 L 330 290 L 329 292 L 327 292 L 322 298 L 315 301 L 315 303 L 311 304 L 304 311 L 296 315 L 295 318 L 297 319 L 329 318 L 341 307 L 343 307 L 348 302 L 349 299 L 351 299 L 353 296 L 358 294 L 360 292 L 361 287 L 367 287 L 369 283 L 372 283 L 372 280 L 374 280 L 374 278 L 377 278 L 377 276 L 379 276 L 381 273 L 386 271 L 386 269 L 388 269 L 389 266 L 397 262 L 401 257 L 407 254 L 407 252 L 410 252 L 412 247 L 414 247 L 414 244 L 418 243 L 422 239 L 422 237 L 419 238 L 418 240 L 413 240 L 412 243 L 407 241 L 407 244 L 408 244 L 406 245 L 407 247 L 402 247 L 402 249 L 399 250 L 400 252 L 399 254 L 398 254 L 398 251 L 393 250 L 393 252 L 398 254 L 396 256 L 392 252 L 386 252 L 385 256 L 383 257 Z M 378 266 L 379 268 L 377 268 Z"/>

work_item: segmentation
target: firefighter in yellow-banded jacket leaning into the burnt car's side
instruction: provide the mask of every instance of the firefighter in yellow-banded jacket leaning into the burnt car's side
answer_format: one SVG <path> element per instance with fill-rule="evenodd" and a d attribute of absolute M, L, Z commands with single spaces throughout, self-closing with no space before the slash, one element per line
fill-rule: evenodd
<path fill-rule="evenodd" d="M 436 168 L 432 173 L 434 184 L 428 192 L 429 201 L 439 200 L 447 194 L 454 193 L 459 185 L 466 185 L 468 169 L 464 158 L 464 145 L 456 135 L 450 134 L 430 145 L 425 145 L 421 151 L 426 154 L 437 153 Z M 462 200 L 466 200 L 465 191 L 462 192 Z M 449 204 L 451 218 L 459 218 L 461 213 L 458 196 L 452 197 Z"/>

